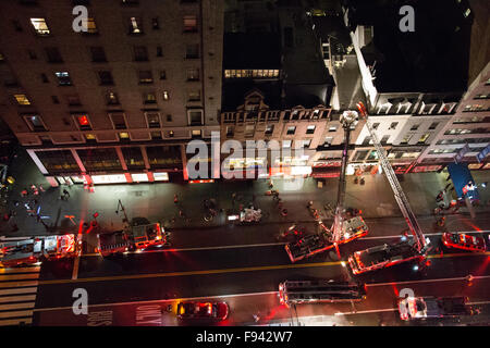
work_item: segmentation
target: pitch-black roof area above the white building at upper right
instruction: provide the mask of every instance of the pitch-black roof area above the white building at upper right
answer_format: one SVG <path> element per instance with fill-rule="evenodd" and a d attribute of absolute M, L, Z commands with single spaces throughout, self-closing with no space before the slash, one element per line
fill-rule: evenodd
<path fill-rule="evenodd" d="M 399 27 L 400 1 L 345 0 L 350 29 L 372 25 L 373 40 L 362 48 L 367 65 L 376 65 L 380 92 L 464 90 L 467 83 L 471 21 L 456 1 L 413 0 L 415 32 Z M 444 9 L 441 12 L 441 9 Z"/>

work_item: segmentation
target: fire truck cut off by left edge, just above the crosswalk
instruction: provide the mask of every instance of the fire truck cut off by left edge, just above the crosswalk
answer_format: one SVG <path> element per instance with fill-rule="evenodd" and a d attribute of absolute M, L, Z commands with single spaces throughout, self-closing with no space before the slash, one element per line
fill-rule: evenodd
<path fill-rule="evenodd" d="M 0 263 L 4 268 L 23 266 L 73 258 L 76 252 L 77 244 L 73 234 L 32 237 L 0 244 Z"/>

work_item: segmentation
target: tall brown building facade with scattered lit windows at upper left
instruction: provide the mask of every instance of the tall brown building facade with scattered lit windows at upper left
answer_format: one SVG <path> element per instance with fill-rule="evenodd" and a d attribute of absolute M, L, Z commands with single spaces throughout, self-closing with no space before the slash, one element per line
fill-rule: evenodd
<path fill-rule="evenodd" d="M 0 13 L 0 116 L 51 185 L 187 178 L 185 145 L 220 128 L 222 1 L 19 0 Z"/>

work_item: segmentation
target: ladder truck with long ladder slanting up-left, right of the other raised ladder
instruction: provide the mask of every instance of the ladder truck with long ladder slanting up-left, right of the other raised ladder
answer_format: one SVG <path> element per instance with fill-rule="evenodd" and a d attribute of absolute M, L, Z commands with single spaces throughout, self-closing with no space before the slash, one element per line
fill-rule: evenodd
<path fill-rule="evenodd" d="M 419 264 L 422 264 L 426 261 L 427 253 L 430 249 L 430 240 L 428 238 L 426 239 L 424 236 L 402 186 L 400 185 L 399 179 L 396 178 L 396 175 L 388 161 L 384 149 L 380 145 L 378 136 L 372 128 L 365 105 L 362 102 L 358 102 L 357 109 L 359 110 L 360 115 L 366 120 L 366 127 L 369 130 L 372 144 L 378 152 L 379 163 L 381 164 L 383 173 L 390 183 L 400 210 L 402 211 L 402 214 L 408 225 L 408 229 L 414 235 L 414 238 L 403 240 L 394 245 L 384 244 L 362 251 L 356 251 L 348 257 L 348 264 L 353 274 L 360 274 L 408 261 L 416 261 Z"/>

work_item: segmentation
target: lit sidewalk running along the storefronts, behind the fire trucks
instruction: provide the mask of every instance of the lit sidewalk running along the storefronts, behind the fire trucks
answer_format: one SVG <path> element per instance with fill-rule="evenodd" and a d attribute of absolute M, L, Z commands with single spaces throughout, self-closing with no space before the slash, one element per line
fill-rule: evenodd
<path fill-rule="evenodd" d="M 19 158 L 13 163 L 10 175 L 15 177 L 13 191 L 9 197 L 8 207 L 0 207 L 0 209 L 2 209 L 2 216 L 8 211 L 15 211 L 16 215 L 12 216 L 10 222 L 1 219 L 0 235 L 12 237 L 78 232 L 79 222 L 82 220 L 90 222 L 96 212 L 99 214 L 97 221 L 102 229 L 120 228 L 123 212 L 115 213 L 119 199 L 130 219 L 145 216 L 150 221 L 160 221 L 171 229 L 200 229 L 229 224 L 226 213 L 237 213 L 240 204 L 247 206 L 250 202 L 269 215 L 260 225 L 311 222 L 313 217 L 306 209 L 307 202 L 313 200 L 314 207 L 320 211 L 321 217 L 326 219 L 323 204 L 328 202 L 334 207 L 338 189 L 338 178 L 324 179 L 322 188 L 317 186 L 316 179 L 306 178 L 303 185 L 292 190 L 287 189 L 291 186 L 290 182 L 273 179 L 273 189 L 280 192 L 283 208 L 287 209 L 287 216 L 283 217 L 272 197 L 265 195 L 269 190 L 268 181 L 102 185 L 96 186 L 95 192 L 90 194 L 84 190 L 82 185 L 72 185 L 71 187 L 63 185 L 51 188 L 24 150 L 19 152 Z M 490 173 L 487 172 L 473 172 L 473 175 L 477 184 L 487 182 L 490 177 Z M 445 174 L 438 173 L 407 174 L 403 177 L 401 185 L 417 215 L 428 215 L 432 212 L 436 207 L 434 198 L 446 184 L 445 177 Z M 363 216 L 368 219 L 401 215 L 384 175 L 365 176 L 365 185 L 354 184 L 354 177 L 347 177 L 346 207 L 362 209 Z M 41 184 L 46 191 L 39 191 L 38 196 L 29 194 L 28 197 L 23 198 L 21 191 L 24 188 L 30 191 L 32 184 L 36 186 Z M 63 189 L 70 192 L 68 200 L 60 200 Z M 179 197 L 177 204 L 173 199 L 175 194 Z M 232 194 L 236 194 L 234 202 Z M 477 213 L 490 211 L 490 207 L 483 204 L 490 199 L 490 189 L 480 190 L 480 196 L 482 204 L 476 207 Z M 37 207 L 40 207 L 40 215 L 46 216 L 39 221 L 35 215 L 29 216 L 24 207 L 24 202 L 34 198 L 38 201 Z M 210 198 L 217 202 L 218 215 L 213 221 L 206 222 L 203 201 Z M 15 207 L 14 201 L 19 201 L 20 204 Z M 180 216 L 180 209 L 189 220 Z M 462 208 L 460 212 L 466 213 L 466 208 Z M 16 232 L 12 231 L 14 223 L 19 226 Z"/>

